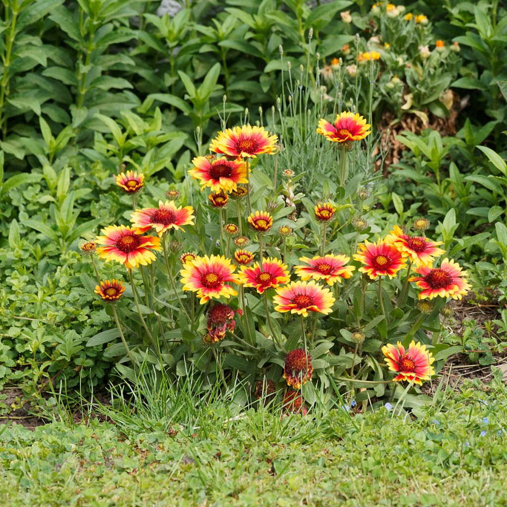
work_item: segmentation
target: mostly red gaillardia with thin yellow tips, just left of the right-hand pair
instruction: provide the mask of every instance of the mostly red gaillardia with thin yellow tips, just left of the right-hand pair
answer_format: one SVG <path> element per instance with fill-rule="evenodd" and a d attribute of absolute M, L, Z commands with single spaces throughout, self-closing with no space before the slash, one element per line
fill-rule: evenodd
<path fill-rule="evenodd" d="M 359 244 L 357 253 L 354 253 L 354 261 L 363 264 L 359 271 L 368 274 L 372 280 L 377 276 L 392 278 L 406 266 L 401 252 L 384 239 L 379 239 L 376 243 L 365 240 L 364 244 Z"/>

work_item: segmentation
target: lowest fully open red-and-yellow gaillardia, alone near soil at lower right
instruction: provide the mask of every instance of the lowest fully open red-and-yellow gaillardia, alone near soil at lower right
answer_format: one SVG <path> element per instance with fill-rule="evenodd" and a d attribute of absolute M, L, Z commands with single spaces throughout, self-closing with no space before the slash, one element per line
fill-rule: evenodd
<path fill-rule="evenodd" d="M 435 360 L 433 354 L 426 350 L 426 345 L 415 343 L 414 340 L 406 352 L 401 342 L 397 342 L 396 346 L 392 343 L 384 345 L 382 352 L 389 370 L 398 374 L 393 380 L 413 381 L 422 385 L 423 380 L 429 380 L 435 374 L 431 366 Z"/>

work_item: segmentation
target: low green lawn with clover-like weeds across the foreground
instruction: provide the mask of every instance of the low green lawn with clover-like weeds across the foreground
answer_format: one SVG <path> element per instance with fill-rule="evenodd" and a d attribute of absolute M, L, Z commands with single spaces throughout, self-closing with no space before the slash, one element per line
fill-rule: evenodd
<path fill-rule="evenodd" d="M 202 427 L 181 413 L 154 426 L 140 405 L 130 419 L 125 407 L 109 409 L 115 424 L 3 427 L 0 504 L 504 505 L 506 392 L 499 379 L 469 382 L 441 394 L 444 409 L 434 403 L 415 418 L 381 408 L 355 425 L 342 409 L 232 417 L 214 399 L 192 419 Z"/>

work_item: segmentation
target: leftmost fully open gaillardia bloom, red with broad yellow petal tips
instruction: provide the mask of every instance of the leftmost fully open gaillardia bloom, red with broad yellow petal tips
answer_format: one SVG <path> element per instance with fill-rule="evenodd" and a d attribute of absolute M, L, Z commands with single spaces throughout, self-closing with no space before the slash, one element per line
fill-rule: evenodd
<path fill-rule="evenodd" d="M 103 236 L 97 236 L 97 243 L 104 246 L 97 248 L 98 256 L 106 262 L 122 263 L 127 269 L 151 264 L 156 259 L 152 250 L 162 249 L 157 236 L 140 236 L 136 229 L 124 225 L 111 225 L 100 232 Z"/>

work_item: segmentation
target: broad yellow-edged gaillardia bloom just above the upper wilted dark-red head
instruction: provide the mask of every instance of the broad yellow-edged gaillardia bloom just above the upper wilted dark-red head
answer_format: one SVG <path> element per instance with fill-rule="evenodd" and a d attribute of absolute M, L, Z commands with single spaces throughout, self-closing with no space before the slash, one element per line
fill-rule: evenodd
<path fill-rule="evenodd" d="M 241 283 L 231 260 L 224 256 L 197 257 L 180 271 L 184 291 L 196 292 L 203 305 L 211 298 L 230 298 L 238 293 L 228 283 Z"/>

